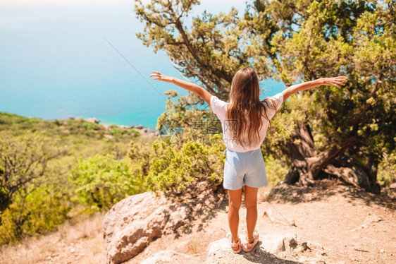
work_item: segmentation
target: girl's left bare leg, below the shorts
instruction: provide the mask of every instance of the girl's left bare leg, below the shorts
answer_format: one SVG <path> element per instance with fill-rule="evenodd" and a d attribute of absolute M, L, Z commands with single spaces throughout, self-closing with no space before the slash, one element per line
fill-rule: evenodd
<path fill-rule="evenodd" d="M 233 234 L 233 243 L 238 241 L 238 224 L 240 223 L 240 205 L 242 203 L 242 188 L 239 190 L 228 190 L 230 200 L 228 202 L 228 224 L 230 225 L 231 234 Z M 236 246 L 233 248 L 237 250 Z"/>

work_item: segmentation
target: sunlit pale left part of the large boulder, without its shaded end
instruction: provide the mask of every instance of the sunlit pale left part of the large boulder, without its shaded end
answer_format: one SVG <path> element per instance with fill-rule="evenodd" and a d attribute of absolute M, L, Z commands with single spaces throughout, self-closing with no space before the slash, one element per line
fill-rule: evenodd
<path fill-rule="evenodd" d="M 133 258 L 157 237 L 186 224 L 190 211 L 152 192 L 120 200 L 103 220 L 107 263 Z"/>

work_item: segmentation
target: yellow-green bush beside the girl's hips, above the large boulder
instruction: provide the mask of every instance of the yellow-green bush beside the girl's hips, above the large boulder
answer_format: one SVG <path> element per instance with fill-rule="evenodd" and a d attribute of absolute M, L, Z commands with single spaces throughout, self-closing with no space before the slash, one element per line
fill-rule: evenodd
<path fill-rule="evenodd" d="M 167 196 L 180 196 L 202 181 L 211 186 L 222 183 L 223 151 L 221 135 L 214 134 L 196 140 L 184 138 L 171 145 L 161 140 L 152 145 L 131 144 L 129 155 L 139 164 L 140 172 L 147 175 L 145 186 Z"/>

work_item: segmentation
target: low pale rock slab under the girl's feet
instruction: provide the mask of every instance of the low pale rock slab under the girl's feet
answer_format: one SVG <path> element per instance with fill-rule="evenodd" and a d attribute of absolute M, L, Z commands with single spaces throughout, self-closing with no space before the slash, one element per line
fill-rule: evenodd
<path fill-rule="evenodd" d="M 242 239 L 242 243 L 245 242 Z M 297 234 L 267 234 L 250 252 L 233 253 L 228 239 L 211 242 L 207 248 L 206 260 L 202 256 L 191 256 L 173 250 L 160 251 L 142 261 L 142 264 L 225 264 L 225 263 L 326 263 L 328 253 L 321 244 L 307 241 Z M 292 260 L 291 260 L 292 259 Z M 293 261 L 297 260 L 297 262 Z"/>

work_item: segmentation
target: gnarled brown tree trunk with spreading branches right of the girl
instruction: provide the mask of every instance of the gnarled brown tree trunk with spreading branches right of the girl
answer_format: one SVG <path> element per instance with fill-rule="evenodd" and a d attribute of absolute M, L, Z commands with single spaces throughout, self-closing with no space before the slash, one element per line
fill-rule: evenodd
<path fill-rule="evenodd" d="M 338 158 L 357 142 L 354 137 L 347 138 L 341 148 L 318 152 L 315 149 L 311 129 L 307 125 L 299 126 L 293 132 L 287 148 L 292 157 L 292 167 L 285 176 L 285 183 L 310 186 L 321 173 L 336 176 L 343 181 L 372 193 L 379 193 L 377 181 L 378 158 L 376 155 L 367 157 L 366 166 L 358 162 L 340 162 Z"/>

